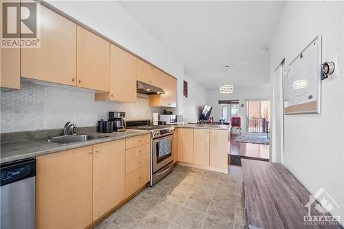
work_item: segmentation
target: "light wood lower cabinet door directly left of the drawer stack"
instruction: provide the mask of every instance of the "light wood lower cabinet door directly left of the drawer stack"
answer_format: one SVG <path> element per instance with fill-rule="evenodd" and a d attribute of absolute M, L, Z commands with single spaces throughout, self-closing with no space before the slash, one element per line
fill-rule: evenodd
<path fill-rule="evenodd" d="M 95 144 L 93 220 L 125 199 L 125 140 Z"/>

